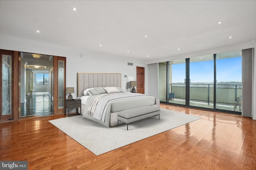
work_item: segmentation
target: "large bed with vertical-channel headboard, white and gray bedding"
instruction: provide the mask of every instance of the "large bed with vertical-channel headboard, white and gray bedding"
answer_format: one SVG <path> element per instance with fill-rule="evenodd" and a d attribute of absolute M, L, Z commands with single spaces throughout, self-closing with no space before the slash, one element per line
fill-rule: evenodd
<path fill-rule="evenodd" d="M 119 111 L 141 106 L 157 107 L 153 96 L 122 89 L 120 73 L 78 73 L 77 90 L 82 100 L 82 117 L 106 127 L 118 125 Z"/>

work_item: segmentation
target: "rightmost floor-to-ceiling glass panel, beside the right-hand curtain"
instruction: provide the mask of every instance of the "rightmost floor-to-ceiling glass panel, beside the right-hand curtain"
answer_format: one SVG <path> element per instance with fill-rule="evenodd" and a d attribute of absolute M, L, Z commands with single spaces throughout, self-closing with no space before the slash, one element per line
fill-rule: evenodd
<path fill-rule="evenodd" d="M 242 111 L 241 53 L 216 54 L 216 109 Z"/>

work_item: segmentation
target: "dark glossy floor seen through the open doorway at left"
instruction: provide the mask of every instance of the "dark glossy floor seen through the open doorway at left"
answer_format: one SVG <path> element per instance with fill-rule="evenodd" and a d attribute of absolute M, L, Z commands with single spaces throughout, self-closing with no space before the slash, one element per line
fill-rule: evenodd
<path fill-rule="evenodd" d="M 53 102 L 46 93 L 34 93 L 26 96 L 26 102 L 21 104 L 21 117 L 53 115 Z"/>

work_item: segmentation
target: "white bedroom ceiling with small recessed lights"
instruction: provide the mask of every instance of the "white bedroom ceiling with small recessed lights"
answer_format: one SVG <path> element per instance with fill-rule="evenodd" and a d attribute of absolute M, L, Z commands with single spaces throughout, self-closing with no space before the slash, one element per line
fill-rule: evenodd
<path fill-rule="evenodd" d="M 1 0 L 0 34 L 152 60 L 255 42 L 256 0 Z"/>

